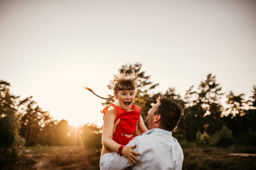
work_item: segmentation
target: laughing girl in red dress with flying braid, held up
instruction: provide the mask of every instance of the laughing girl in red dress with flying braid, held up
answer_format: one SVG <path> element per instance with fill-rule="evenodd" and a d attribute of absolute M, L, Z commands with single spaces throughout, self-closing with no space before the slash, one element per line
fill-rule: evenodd
<path fill-rule="evenodd" d="M 137 164 L 133 157 L 135 152 L 130 147 L 124 147 L 124 145 L 127 145 L 136 135 L 148 131 L 140 115 L 140 107 L 133 104 L 138 86 L 137 78 L 138 76 L 134 70 L 130 74 L 114 75 L 114 96 L 110 98 L 100 97 L 92 89 L 84 87 L 101 99 L 110 100 L 115 98 L 118 101 L 118 105 L 110 104 L 103 109 L 105 118 L 102 131 L 102 144 L 104 147 L 116 151 L 120 156 L 124 155 L 131 165 L 132 162 Z M 114 108 L 108 111 L 109 106 L 113 106 Z M 114 122 L 118 119 L 120 119 L 120 122 L 116 126 L 113 135 Z M 136 133 L 135 135 L 137 121 L 140 133 Z M 135 154 L 139 155 L 138 153 Z"/>

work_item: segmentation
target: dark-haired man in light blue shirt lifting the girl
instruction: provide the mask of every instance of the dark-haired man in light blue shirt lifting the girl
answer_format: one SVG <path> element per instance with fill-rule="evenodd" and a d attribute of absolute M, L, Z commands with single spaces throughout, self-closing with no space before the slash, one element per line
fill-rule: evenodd
<path fill-rule="evenodd" d="M 149 131 L 134 137 L 126 145 L 140 153 L 136 159 L 141 162 L 129 167 L 130 163 L 124 156 L 116 152 L 105 151 L 103 147 L 104 151 L 100 158 L 101 170 L 182 169 L 183 151 L 178 141 L 172 137 L 172 131 L 183 116 L 184 109 L 180 104 L 165 96 L 159 96 L 156 101 L 157 103 L 148 111 L 145 120 Z"/>

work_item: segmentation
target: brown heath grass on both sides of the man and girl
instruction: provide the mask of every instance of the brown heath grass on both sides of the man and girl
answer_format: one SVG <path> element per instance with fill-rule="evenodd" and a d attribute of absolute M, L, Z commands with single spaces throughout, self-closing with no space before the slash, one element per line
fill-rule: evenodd
<path fill-rule="evenodd" d="M 101 148 L 83 149 L 79 146 L 26 147 L 22 151 L 22 162 L 5 169 L 17 170 L 99 170 Z M 256 167 L 256 156 L 231 155 L 231 153 L 256 153 L 256 147 L 240 146 L 229 148 L 195 145 L 183 147 L 183 170 L 252 170 Z"/>

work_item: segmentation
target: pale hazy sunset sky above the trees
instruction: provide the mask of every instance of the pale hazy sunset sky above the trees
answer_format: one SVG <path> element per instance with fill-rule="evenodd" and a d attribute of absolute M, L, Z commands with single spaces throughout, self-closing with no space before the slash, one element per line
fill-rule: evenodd
<path fill-rule="evenodd" d="M 184 96 L 209 73 L 222 92 L 256 85 L 254 0 L 0 0 L 0 80 L 69 125 L 103 124 L 107 85 L 142 64 L 152 92 Z"/>

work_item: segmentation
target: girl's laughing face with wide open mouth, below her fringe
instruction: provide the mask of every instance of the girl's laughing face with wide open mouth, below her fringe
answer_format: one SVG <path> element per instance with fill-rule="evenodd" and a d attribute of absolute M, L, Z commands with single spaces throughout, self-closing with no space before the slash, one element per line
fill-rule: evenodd
<path fill-rule="evenodd" d="M 118 100 L 119 107 L 129 111 L 135 98 L 135 92 L 134 90 L 118 90 L 114 96 Z"/>

